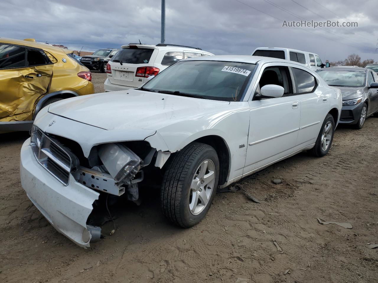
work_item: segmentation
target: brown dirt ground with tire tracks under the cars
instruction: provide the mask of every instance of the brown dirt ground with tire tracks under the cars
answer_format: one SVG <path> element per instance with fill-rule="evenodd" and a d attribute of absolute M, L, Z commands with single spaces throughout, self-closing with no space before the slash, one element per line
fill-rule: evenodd
<path fill-rule="evenodd" d="M 102 91 L 105 74 L 93 77 Z M 0 282 L 376 283 L 378 249 L 367 245 L 378 244 L 377 136 L 378 118 L 360 131 L 338 128 L 327 156 L 303 152 L 240 182 L 260 204 L 240 191 L 219 193 L 192 229 L 167 221 L 152 191 L 140 206 L 113 212 L 114 235 L 108 222 L 106 238 L 82 249 L 48 224 L 20 185 L 28 134 L 3 134 Z M 272 183 L 277 178 L 282 184 Z"/>

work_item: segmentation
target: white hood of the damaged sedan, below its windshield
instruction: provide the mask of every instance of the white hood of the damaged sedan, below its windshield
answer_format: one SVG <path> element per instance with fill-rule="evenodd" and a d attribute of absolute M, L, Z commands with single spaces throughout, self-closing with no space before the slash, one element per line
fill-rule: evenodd
<path fill-rule="evenodd" d="M 147 91 L 84 95 L 50 105 L 48 112 L 98 128 L 155 129 L 229 102 Z"/>

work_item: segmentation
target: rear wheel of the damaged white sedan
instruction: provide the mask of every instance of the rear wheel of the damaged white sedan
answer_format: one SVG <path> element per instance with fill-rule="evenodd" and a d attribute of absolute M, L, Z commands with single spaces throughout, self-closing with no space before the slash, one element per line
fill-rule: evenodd
<path fill-rule="evenodd" d="M 328 153 L 332 145 L 333 134 L 335 133 L 335 120 L 331 114 L 327 114 L 323 125 L 320 129 L 312 154 L 316 157 L 322 157 Z"/>

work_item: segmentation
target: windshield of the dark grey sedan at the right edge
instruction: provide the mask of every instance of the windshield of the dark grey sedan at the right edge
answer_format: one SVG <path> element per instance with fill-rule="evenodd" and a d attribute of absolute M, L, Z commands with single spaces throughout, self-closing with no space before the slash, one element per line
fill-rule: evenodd
<path fill-rule="evenodd" d="M 363 71 L 328 69 L 319 70 L 317 73 L 330 86 L 345 86 L 349 88 L 365 86 L 366 72 Z"/>

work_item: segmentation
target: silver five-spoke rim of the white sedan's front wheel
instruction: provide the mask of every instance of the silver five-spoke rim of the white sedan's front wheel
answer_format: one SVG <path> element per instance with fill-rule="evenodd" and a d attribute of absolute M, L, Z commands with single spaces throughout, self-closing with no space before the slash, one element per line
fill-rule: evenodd
<path fill-rule="evenodd" d="M 195 172 L 189 192 L 189 210 L 200 214 L 208 205 L 215 183 L 215 165 L 210 159 L 201 163 Z"/>

